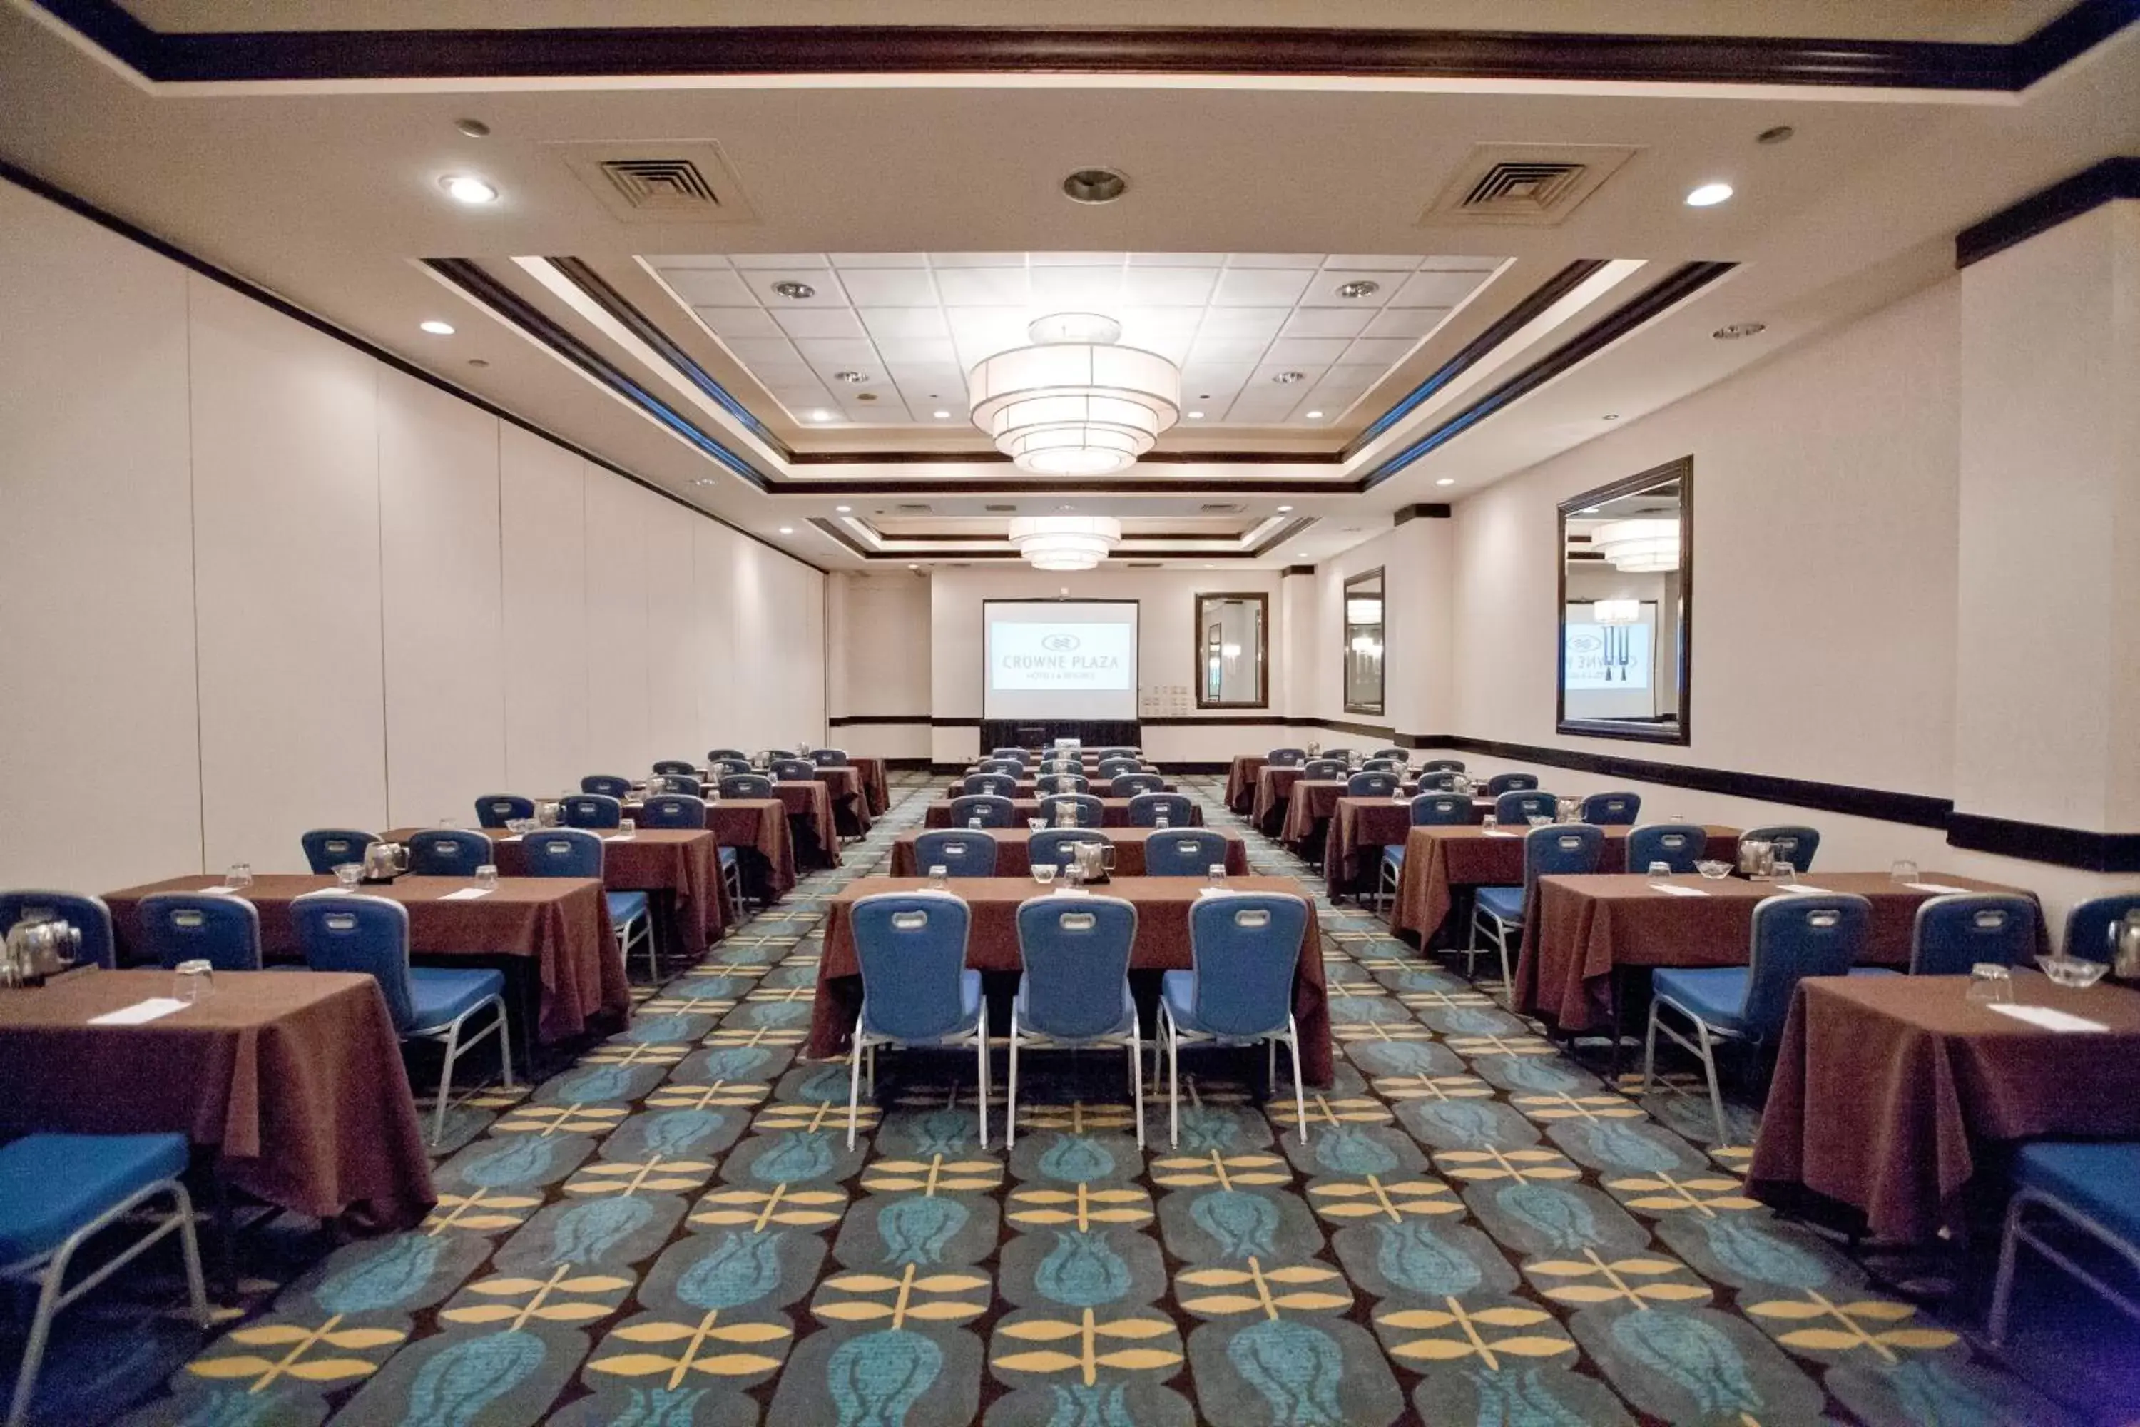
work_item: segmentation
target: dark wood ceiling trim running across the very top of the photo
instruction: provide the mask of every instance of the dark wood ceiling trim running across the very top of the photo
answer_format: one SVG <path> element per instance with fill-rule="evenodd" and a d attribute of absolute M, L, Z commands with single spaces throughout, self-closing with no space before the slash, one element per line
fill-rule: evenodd
<path fill-rule="evenodd" d="M 1810 88 L 2027 88 L 2131 24 L 2084 0 L 2018 45 L 1318 28 L 642 26 L 160 34 L 113 0 L 36 0 L 169 83 L 601 75 L 1312 75 Z"/>

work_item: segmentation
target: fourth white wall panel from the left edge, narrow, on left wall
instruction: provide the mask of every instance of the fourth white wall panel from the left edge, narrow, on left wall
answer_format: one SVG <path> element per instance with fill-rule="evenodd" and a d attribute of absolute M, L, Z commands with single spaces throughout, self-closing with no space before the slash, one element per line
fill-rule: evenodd
<path fill-rule="evenodd" d="M 501 421 L 507 695 L 505 779 L 496 792 L 556 794 L 593 772 L 586 471 L 571 451 Z"/>

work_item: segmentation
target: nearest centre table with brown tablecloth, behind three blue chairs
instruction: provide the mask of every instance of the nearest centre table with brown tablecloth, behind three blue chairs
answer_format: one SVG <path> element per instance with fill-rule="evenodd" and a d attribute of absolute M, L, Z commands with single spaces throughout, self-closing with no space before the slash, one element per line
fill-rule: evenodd
<path fill-rule="evenodd" d="M 922 892 L 920 877 L 858 877 L 826 905 L 824 954 L 817 961 L 817 995 L 811 1003 L 809 1053 L 845 1055 L 854 1018 L 862 1008 L 862 967 L 854 952 L 854 903 L 877 892 Z M 1233 877 L 1228 892 L 1284 892 L 1299 896 L 1290 877 Z M 1201 877 L 1119 877 L 1098 896 L 1119 896 L 1136 905 L 1132 971 L 1190 969 L 1190 907 L 1205 892 Z M 959 877 L 950 894 L 972 909 L 965 965 L 978 971 L 1017 971 L 1019 907 L 1042 892 L 1031 877 Z M 1301 958 L 1293 976 L 1293 1018 L 1301 1038 L 1301 1078 L 1331 1083 L 1331 1018 L 1323 986 L 1323 933 L 1310 914 L 1301 935 Z M 1147 1025 L 1151 1025 L 1147 1014 Z"/>

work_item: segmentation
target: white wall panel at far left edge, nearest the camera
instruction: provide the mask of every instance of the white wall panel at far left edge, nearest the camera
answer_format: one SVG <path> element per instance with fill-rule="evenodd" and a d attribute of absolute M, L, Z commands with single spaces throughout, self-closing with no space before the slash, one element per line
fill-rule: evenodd
<path fill-rule="evenodd" d="M 11 884 L 201 866 L 186 424 L 186 274 L 0 186 Z"/>

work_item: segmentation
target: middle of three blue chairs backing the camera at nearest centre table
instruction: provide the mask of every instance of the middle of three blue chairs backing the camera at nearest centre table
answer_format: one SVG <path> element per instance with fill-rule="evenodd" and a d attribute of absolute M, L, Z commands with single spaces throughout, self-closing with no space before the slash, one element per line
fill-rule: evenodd
<path fill-rule="evenodd" d="M 1038 839 L 1034 839 L 1038 841 Z M 1143 1040 L 1130 995 L 1136 905 L 1119 896 L 1036 896 L 1019 905 L 1019 997 L 1010 1003 L 1004 1149 L 1019 1142 L 1019 1046 L 1121 1046 L 1130 1053 L 1136 1145 L 1145 1145 Z"/>

